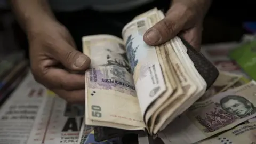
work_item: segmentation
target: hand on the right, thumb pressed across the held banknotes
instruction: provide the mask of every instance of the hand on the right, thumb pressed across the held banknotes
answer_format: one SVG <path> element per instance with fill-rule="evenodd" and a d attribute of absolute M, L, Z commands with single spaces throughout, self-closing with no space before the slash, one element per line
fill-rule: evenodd
<path fill-rule="evenodd" d="M 199 51 L 203 19 L 210 4 L 210 0 L 173 0 L 166 17 L 146 31 L 144 41 L 148 45 L 159 45 L 181 34 Z"/>

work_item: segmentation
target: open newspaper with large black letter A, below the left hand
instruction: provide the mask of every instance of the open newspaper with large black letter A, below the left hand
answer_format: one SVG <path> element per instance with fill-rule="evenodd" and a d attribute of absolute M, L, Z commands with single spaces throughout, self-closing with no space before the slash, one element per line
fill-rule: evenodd
<path fill-rule="evenodd" d="M 68 105 L 29 71 L 0 109 L 0 144 L 74 144 L 83 120 L 83 105 Z"/>

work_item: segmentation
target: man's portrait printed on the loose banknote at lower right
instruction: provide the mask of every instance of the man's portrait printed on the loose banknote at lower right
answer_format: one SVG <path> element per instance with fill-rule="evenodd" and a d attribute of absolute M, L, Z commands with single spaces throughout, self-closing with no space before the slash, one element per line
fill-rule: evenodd
<path fill-rule="evenodd" d="M 240 118 L 250 116 L 256 112 L 254 105 L 249 100 L 238 95 L 229 95 L 222 98 L 220 105 L 223 110 Z"/>

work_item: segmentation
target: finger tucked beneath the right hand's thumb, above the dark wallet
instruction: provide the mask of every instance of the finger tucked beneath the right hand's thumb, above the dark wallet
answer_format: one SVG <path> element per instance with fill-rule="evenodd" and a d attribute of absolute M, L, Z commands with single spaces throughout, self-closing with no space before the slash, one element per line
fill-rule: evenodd
<path fill-rule="evenodd" d="M 194 47 L 196 51 L 200 51 L 202 42 L 202 30 L 201 26 L 191 28 L 182 34 L 182 37 Z"/>

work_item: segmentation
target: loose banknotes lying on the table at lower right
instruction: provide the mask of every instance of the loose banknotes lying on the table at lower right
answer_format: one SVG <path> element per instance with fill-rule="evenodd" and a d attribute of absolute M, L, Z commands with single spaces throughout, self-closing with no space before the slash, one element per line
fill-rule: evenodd
<path fill-rule="evenodd" d="M 217 81 L 158 136 L 165 144 L 256 143 L 256 81 L 221 71 Z"/>

